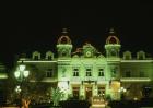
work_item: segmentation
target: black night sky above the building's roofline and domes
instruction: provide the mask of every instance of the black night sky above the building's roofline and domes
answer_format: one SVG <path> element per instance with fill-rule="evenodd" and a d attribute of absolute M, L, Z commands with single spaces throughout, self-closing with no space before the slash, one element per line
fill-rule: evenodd
<path fill-rule="evenodd" d="M 143 49 L 153 55 L 153 4 L 140 0 L 106 1 L 5 4 L 1 13 L 0 60 L 10 65 L 21 52 L 55 51 L 63 27 L 74 48 L 90 41 L 104 52 L 108 31 L 114 27 L 122 51 L 131 50 L 136 56 Z"/>

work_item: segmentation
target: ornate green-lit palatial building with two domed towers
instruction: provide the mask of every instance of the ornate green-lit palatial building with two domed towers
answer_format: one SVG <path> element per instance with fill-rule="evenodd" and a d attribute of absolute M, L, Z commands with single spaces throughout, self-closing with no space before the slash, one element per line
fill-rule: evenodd
<path fill-rule="evenodd" d="M 146 87 L 152 87 L 153 60 L 146 58 L 144 51 L 139 51 L 137 58 L 130 51 L 120 56 L 121 45 L 113 29 L 104 46 L 105 56 L 89 43 L 74 52 L 72 48 L 71 39 L 63 31 L 57 43 L 57 58 L 51 51 L 45 57 L 34 51 L 32 58 L 20 58 L 17 62 L 24 61 L 32 74 L 44 73 L 42 82 L 58 86 L 66 99 L 69 95 L 85 99 L 92 96 L 139 99 Z"/>

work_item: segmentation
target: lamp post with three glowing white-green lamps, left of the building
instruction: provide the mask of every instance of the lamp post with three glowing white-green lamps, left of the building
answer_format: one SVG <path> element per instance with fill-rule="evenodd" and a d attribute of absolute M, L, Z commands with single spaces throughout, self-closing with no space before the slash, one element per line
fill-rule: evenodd
<path fill-rule="evenodd" d="M 25 70 L 26 65 L 22 63 L 17 67 L 16 71 L 14 72 L 14 76 L 20 82 L 20 108 L 22 108 L 22 82 L 30 75 L 30 71 Z"/>

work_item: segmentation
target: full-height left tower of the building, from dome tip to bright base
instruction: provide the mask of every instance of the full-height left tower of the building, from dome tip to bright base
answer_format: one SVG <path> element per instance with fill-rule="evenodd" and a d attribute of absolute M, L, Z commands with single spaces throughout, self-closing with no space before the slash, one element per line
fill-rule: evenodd
<path fill-rule="evenodd" d="M 57 52 L 58 52 L 58 87 L 64 93 L 63 99 L 68 98 L 69 87 L 70 87 L 70 58 L 72 44 L 71 39 L 67 35 L 67 29 L 62 29 L 62 35 L 58 39 Z"/>

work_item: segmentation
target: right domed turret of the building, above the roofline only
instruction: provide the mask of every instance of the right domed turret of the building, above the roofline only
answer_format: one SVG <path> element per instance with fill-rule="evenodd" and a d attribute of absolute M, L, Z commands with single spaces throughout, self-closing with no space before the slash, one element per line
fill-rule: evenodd
<path fill-rule="evenodd" d="M 106 57 L 119 58 L 120 47 L 120 41 L 118 37 L 115 36 L 115 32 L 111 28 L 105 44 Z"/>

